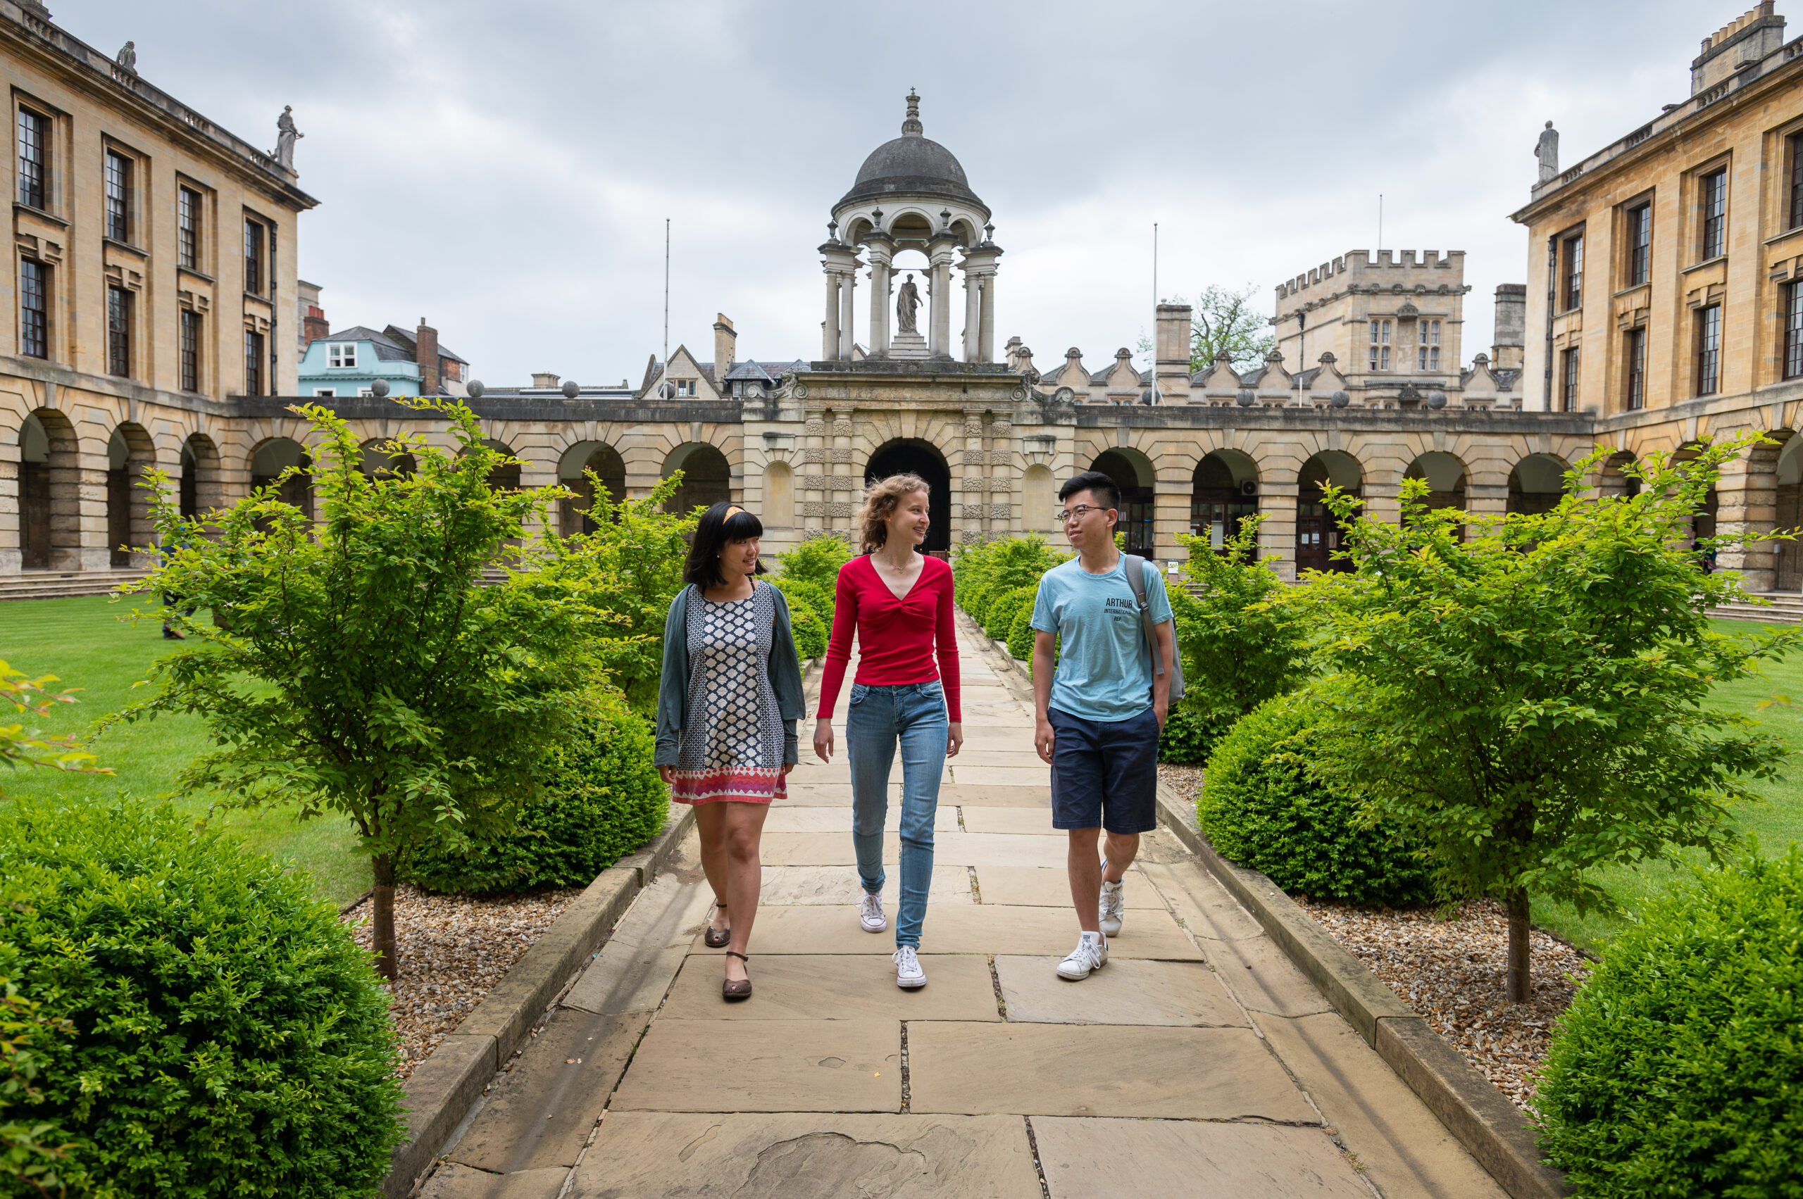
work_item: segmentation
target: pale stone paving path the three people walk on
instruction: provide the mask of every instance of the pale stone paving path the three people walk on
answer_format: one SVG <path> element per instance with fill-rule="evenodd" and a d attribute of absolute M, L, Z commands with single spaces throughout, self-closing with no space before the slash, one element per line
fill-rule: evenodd
<path fill-rule="evenodd" d="M 719 997 L 691 837 L 424 1194 L 1500 1199 L 1168 833 L 1141 840 L 1109 965 L 1053 974 L 1078 929 L 1031 696 L 963 617 L 959 649 L 929 984 L 894 984 L 894 869 L 891 930 L 858 927 L 847 766 L 804 748 L 764 826 L 754 997 Z"/>

